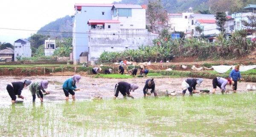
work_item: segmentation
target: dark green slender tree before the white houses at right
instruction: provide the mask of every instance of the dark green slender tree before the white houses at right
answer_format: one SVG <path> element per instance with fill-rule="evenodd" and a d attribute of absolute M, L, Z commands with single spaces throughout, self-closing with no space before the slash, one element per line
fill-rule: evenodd
<path fill-rule="evenodd" d="M 216 28 L 218 31 L 221 31 L 221 33 L 224 35 L 225 34 L 225 23 L 227 22 L 227 14 L 225 12 L 216 12 L 215 14 L 215 19 L 216 19 L 216 25 L 218 28 Z"/>

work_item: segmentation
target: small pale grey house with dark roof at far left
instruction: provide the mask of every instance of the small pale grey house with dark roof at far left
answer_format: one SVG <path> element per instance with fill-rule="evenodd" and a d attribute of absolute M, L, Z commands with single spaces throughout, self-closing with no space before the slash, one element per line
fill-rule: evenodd
<path fill-rule="evenodd" d="M 18 39 L 14 42 L 14 59 L 17 61 L 16 57 L 21 56 L 21 58 L 30 58 L 32 56 L 32 50 L 30 48 L 30 42 L 25 39 Z"/>

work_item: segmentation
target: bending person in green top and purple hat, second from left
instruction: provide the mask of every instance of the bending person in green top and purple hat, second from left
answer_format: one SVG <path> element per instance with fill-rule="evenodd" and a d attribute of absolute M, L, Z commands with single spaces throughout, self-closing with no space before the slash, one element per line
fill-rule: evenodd
<path fill-rule="evenodd" d="M 40 82 L 34 82 L 34 83 L 30 84 L 29 90 L 32 94 L 33 102 L 35 102 L 35 94 L 38 96 L 38 98 L 40 98 L 40 101 L 43 102 L 44 95 L 41 92 L 41 90 L 48 95 L 49 92 L 44 90 L 44 89 L 47 89 L 47 87 L 48 87 L 48 81 L 47 80 L 43 80 L 43 81 L 40 81 Z"/>

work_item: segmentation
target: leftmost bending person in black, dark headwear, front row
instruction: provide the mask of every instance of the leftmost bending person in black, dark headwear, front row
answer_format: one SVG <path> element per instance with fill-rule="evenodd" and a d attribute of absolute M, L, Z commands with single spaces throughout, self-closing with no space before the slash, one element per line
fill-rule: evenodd
<path fill-rule="evenodd" d="M 29 86 L 29 84 L 31 84 L 30 80 L 24 80 L 23 82 L 12 82 L 7 85 L 6 89 L 12 98 L 12 104 L 14 104 L 16 101 L 16 95 L 24 99 L 24 97 L 21 95 L 21 91 L 24 87 Z"/>

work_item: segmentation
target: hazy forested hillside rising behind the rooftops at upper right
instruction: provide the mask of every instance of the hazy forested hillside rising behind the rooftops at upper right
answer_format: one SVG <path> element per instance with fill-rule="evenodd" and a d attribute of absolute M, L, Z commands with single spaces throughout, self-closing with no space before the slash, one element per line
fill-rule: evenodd
<path fill-rule="evenodd" d="M 155 0 L 150 0 L 155 1 Z M 212 14 L 216 11 L 229 11 L 229 13 L 240 12 L 241 8 L 247 4 L 256 4 L 256 0 L 160 0 L 164 9 L 168 13 L 182 13 L 188 11 L 189 7 L 193 8 L 194 13 L 200 13 L 209 9 Z M 122 0 L 123 4 L 144 4 L 147 5 L 148 0 Z M 244 12 L 248 12 L 244 11 Z"/>

